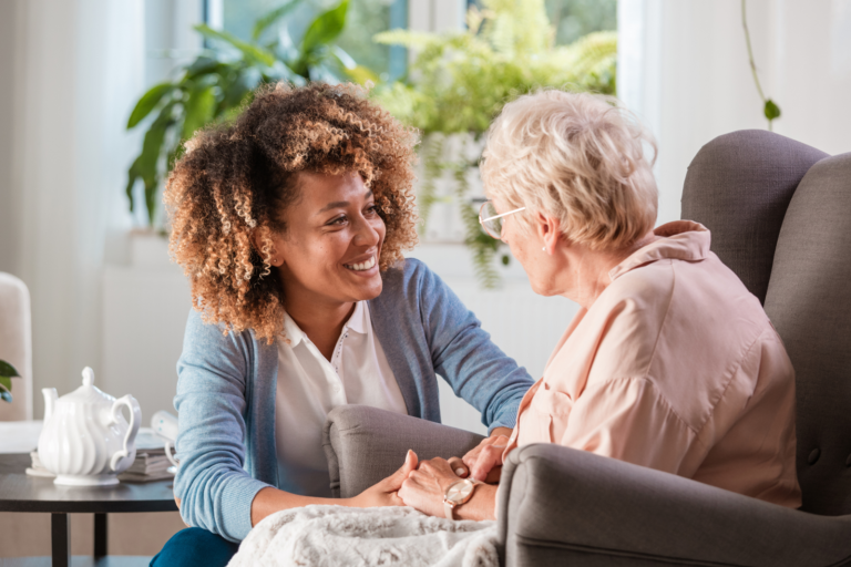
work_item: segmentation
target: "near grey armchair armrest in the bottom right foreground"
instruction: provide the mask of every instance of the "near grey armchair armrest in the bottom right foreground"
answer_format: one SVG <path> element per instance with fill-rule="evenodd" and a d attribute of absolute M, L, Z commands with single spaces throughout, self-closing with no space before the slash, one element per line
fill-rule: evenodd
<path fill-rule="evenodd" d="M 510 453 L 496 517 L 509 567 L 851 559 L 851 516 L 816 516 L 558 445 Z"/>

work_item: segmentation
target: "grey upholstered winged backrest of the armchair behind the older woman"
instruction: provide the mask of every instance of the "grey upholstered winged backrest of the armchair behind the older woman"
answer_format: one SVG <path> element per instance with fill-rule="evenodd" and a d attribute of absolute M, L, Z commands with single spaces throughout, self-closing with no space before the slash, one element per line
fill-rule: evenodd
<path fill-rule="evenodd" d="M 851 514 L 851 154 L 719 136 L 688 168 L 683 218 L 711 230 L 792 360 L 802 509 Z"/>

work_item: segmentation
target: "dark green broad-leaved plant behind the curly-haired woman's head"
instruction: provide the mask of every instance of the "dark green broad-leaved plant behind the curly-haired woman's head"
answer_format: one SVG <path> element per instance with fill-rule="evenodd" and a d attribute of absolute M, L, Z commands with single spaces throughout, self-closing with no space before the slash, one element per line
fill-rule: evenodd
<path fill-rule="evenodd" d="M 271 41 L 264 32 L 304 0 L 289 0 L 259 18 L 250 41 L 243 41 L 206 24 L 195 30 L 217 49 L 205 50 L 181 70 L 175 81 L 152 86 L 136 103 L 127 130 L 145 124 L 142 151 L 127 172 L 126 194 L 131 213 L 135 210 L 134 187 L 144 185 L 146 220 L 155 226 L 162 181 L 180 158 L 183 143 L 209 123 L 236 116 L 250 102 L 254 90 L 263 83 L 289 81 L 351 80 L 376 81 L 369 69 L 358 65 L 335 42 L 346 27 L 349 0 L 321 12 L 294 44 L 281 30 Z M 153 121 L 143 122 L 150 115 Z"/>

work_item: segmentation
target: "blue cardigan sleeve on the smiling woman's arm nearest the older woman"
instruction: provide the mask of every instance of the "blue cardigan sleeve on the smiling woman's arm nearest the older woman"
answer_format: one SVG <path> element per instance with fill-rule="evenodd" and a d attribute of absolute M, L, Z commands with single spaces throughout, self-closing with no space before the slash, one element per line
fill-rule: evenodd
<path fill-rule="evenodd" d="M 532 377 L 491 341 L 479 319 L 437 274 L 423 264 L 418 271 L 420 317 L 434 370 L 455 395 L 482 413 L 489 432 L 514 427 L 517 406 L 534 383 Z"/>

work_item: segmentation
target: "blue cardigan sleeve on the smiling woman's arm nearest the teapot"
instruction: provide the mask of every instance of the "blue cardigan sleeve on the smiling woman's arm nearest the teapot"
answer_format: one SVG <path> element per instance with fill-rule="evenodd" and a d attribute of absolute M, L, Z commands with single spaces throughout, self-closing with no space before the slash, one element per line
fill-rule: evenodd
<path fill-rule="evenodd" d="M 268 484 L 244 468 L 246 385 L 250 347 L 245 336 L 225 337 L 193 310 L 177 362 L 177 457 L 174 494 L 181 516 L 230 542 L 252 529 L 252 502 Z"/>

